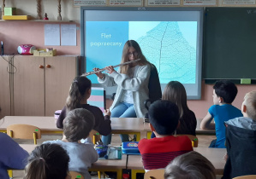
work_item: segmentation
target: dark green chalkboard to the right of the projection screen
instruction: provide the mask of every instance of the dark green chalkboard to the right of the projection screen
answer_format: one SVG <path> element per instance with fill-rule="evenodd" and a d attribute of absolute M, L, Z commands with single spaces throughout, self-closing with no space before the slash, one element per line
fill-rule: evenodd
<path fill-rule="evenodd" d="M 256 79 L 256 9 L 206 8 L 203 78 Z"/>

